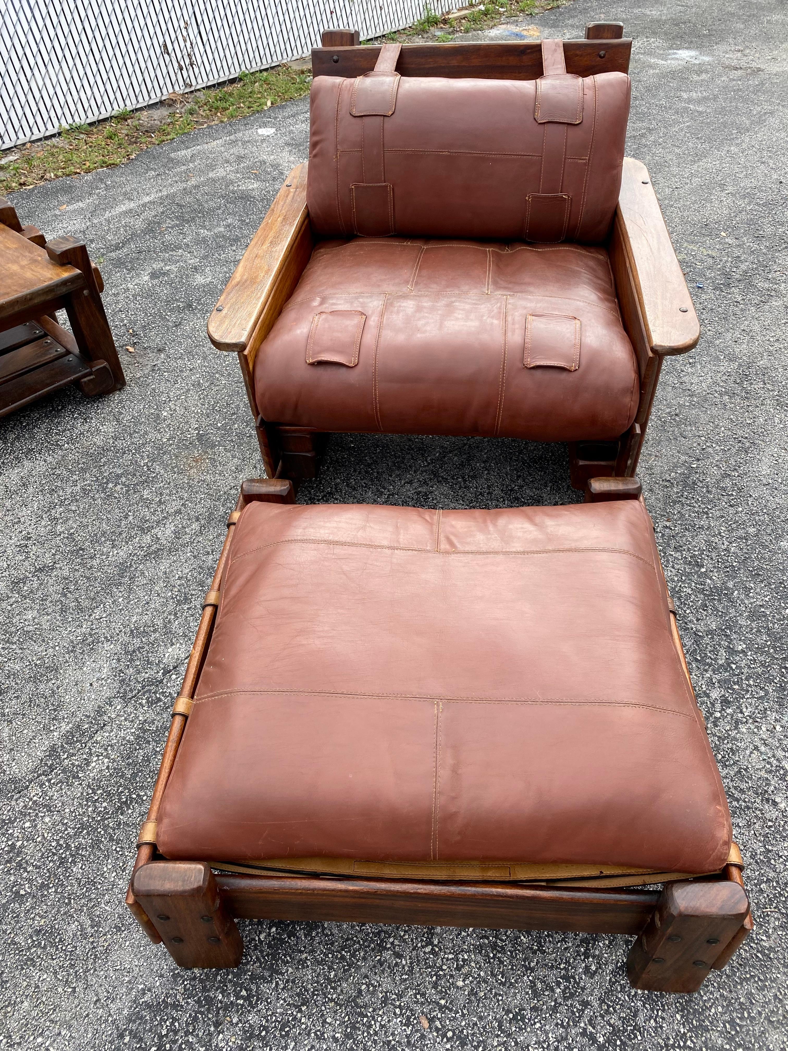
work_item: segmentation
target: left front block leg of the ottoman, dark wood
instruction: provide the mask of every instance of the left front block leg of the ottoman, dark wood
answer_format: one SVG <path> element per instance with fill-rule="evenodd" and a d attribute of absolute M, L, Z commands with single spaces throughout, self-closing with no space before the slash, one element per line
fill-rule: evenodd
<path fill-rule="evenodd" d="M 208 865 L 153 861 L 134 872 L 133 894 L 179 967 L 237 967 L 244 951 Z"/>

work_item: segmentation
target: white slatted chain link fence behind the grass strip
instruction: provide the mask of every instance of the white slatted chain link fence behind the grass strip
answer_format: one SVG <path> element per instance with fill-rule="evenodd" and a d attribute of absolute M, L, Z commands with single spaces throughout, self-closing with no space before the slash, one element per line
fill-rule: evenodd
<path fill-rule="evenodd" d="M 368 40 L 423 14 L 424 0 L 0 0 L 0 148 L 302 58 L 326 28 Z"/>

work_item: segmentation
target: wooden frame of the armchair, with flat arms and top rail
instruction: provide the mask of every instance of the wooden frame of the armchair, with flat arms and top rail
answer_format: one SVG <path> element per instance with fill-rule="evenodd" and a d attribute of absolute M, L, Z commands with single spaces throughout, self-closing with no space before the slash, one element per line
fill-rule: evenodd
<path fill-rule="evenodd" d="M 593 23 L 585 40 L 564 42 L 568 73 L 627 73 L 631 41 L 621 23 Z M 617 39 L 619 38 L 619 39 Z M 600 40 L 602 44 L 600 44 Z M 312 51 L 314 76 L 356 77 L 371 70 L 379 47 L 358 47 L 358 33 L 327 30 Z M 407 44 L 398 68 L 405 76 L 536 80 L 541 45 L 527 43 Z M 325 435 L 304 427 L 267 423 L 254 395 L 254 358 L 292 294 L 315 246 L 307 208 L 307 165 L 294 168 L 254 234 L 208 322 L 214 347 L 237 353 L 266 474 L 312 478 Z M 638 467 L 663 359 L 684 354 L 700 326 L 648 171 L 624 160 L 623 179 L 607 251 L 626 334 L 640 373 L 638 414 L 618 441 L 569 445 L 572 483 L 582 489 L 597 476 L 631 477 Z"/>

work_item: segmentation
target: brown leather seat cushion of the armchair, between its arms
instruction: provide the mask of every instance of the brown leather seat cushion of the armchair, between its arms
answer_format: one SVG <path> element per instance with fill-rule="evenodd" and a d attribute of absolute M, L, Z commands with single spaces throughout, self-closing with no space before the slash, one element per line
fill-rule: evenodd
<path fill-rule="evenodd" d="M 615 439 L 638 368 L 607 253 L 579 245 L 318 245 L 257 352 L 272 424 Z"/>

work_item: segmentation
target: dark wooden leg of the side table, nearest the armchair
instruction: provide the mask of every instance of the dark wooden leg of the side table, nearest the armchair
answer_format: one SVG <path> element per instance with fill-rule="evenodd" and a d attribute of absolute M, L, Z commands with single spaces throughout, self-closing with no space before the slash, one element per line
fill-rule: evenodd
<path fill-rule="evenodd" d="M 46 242 L 46 252 L 56 263 L 69 264 L 81 270 L 85 277 L 86 287 L 69 295 L 65 305 L 80 352 L 90 362 L 106 362 L 115 377 L 116 387 L 125 387 L 126 377 L 123 375 L 87 248 L 76 238 L 56 238 Z"/>

